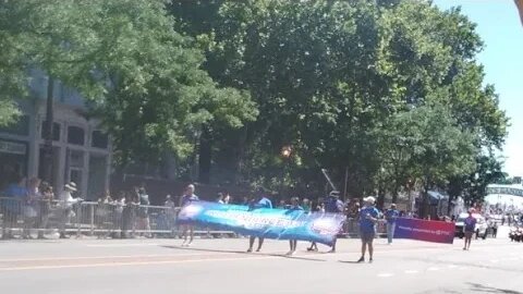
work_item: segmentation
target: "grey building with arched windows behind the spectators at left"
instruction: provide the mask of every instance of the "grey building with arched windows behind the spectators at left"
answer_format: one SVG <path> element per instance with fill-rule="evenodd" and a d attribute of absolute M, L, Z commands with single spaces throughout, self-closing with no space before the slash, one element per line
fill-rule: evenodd
<path fill-rule="evenodd" d="M 32 72 L 31 98 L 20 102 L 24 115 L 9 127 L 0 128 L 0 187 L 13 175 L 42 174 L 42 130 L 46 122 L 48 78 L 41 71 Z M 89 118 L 84 99 L 73 89 L 54 83 L 52 185 L 60 192 L 73 181 L 78 196 L 97 198 L 109 188 L 111 143 Z"/>

